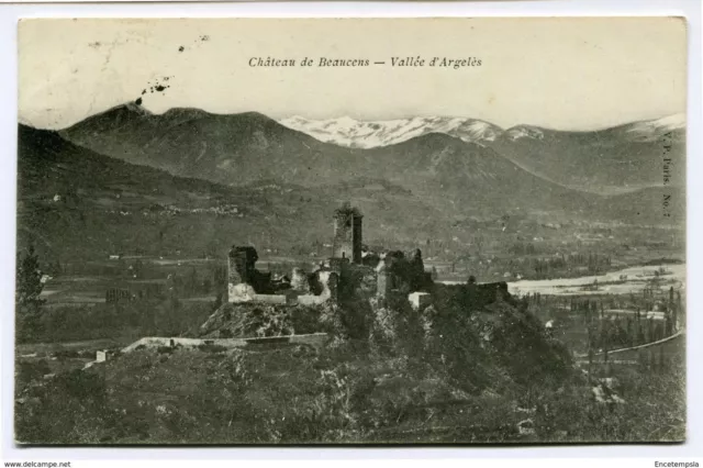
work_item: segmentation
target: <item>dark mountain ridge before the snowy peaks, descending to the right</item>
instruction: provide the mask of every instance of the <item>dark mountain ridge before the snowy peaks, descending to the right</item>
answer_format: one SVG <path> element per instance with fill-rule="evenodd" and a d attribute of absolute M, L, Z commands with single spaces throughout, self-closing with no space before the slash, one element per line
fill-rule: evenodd
<path fill-rule="evenodd" d="M 227 186 L 272 179 L 317 187 L 366 177 L 389 180 L 437 202 L 480 200 L 477 208 L 484 211 L 491 205 L 538 209 L 538 203 L 580 209 L 592 199 L 529 174 L 495 149 L 460 135 L 432 132 L 365 149 L 320 142 L 256 112 L 125 113 L 116 108 L 60 133 L 100 154 Z"/>

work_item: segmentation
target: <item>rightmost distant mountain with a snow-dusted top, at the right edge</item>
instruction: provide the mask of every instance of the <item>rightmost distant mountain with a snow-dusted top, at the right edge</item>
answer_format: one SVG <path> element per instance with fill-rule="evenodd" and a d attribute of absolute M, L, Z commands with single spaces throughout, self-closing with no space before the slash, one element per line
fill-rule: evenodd
<path fill-rule="evenodd" d="M 490 146 L 547 180 L 604 193 L 661 186 L 666 152 L 674 160 L 668 183 L 684 183 L 684 114 L 583 132 L 517 125 Z"/>

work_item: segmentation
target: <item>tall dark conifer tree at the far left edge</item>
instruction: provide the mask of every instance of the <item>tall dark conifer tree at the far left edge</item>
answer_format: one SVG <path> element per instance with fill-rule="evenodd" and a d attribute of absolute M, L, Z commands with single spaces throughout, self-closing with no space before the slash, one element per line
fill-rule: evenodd
<path fill-rule="evenodd" d="M 27 248 L 26 255 L 18 259 L 15 281 L 15 323 L 18 339 L 25 341 L 40 332 L 40 314 L 44 300 L 40 298 L 44 285 L 40 258 L 34 246 Z"/>

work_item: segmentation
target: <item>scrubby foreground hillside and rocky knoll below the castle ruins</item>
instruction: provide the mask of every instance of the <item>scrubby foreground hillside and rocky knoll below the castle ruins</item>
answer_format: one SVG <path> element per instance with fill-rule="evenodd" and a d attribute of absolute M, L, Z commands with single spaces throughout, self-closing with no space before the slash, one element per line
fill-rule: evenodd
<path fill-rule="evenodd" d="M 622 375 L 617 391 L 626 403 L 599 403 L 591 395 L 593 383 L 526 304 L 510 297 L 476 303 L 458 287 L 434 294 L 436 303 L 421 312 L 402 303 L 373 305 L 368 334 L 357 339 L 348 338 L 350 330 L 334 309 L 301 309 L 304 315 L 292 311 L 286 317 L 276 308 L 237 305 L 205 322 L 209 334 L 276 335 L 290 333 L 288 326 L 327 331 L 333 339 L 322 349 L 144 348 L 40 386 L 33 382 L 46 372 L 42 363 L 21 365 L 15 437 L 30 444 L 683 437 L 684 395 L 671 393 L 681 363 Z"/>

